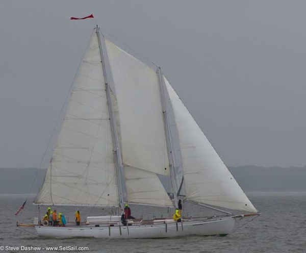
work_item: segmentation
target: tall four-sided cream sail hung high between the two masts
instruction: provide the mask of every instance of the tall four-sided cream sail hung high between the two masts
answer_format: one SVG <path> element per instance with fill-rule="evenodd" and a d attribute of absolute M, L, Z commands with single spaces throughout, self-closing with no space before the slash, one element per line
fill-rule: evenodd
<path fill-rule="evenodd" d="M 156 70 L 112 42 L 105 42 L 118 103 L 117 129 L 123 164 L 169 175 Z"/>

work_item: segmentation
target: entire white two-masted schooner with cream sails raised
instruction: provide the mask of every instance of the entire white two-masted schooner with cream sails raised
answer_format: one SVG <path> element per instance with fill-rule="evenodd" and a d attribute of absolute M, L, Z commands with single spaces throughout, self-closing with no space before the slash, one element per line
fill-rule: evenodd
<path fill-rule="evenodd" d="M 159 83 L 156 70 L 100 39 L 99 28 L 95 30 L 34 203 L 173 207 L 164 184 L 174 193 L 186 193 L 187 200 L 257 212 L 162 73 Z M 165 182 L 169 167 L 171 187 Z M 247 216 L 255 215 L 259 214 Z M 127 219 L 125 224 L 121 216 L 94 216 L 87 217 L 85 226 L 49 226 L 45 221 L 42 225 L 35 217 L 31 226 L 39 236 L 63 238 L 226 235 L 241 215 L 215 217 L 184 217 L 180 223 L 171 217 Z"/>

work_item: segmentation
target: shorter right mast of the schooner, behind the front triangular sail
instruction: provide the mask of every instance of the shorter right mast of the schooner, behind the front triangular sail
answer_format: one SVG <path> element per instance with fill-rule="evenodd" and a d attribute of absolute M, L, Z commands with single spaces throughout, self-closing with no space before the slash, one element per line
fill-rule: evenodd
<path fill-rule="evenodd" d="M 160 84 L 162 109 L 163 109 L 163 114 L 164 114 L 164 125 L 165 125 L 166 145 L 167 145 L 167 153 L 168 153 L 168 160 L 169 160 L 169 167 L 170 167 L 171 186 L 172 186 L 173 197 L 174 197 L 174 206 L 175 208 L 177 208 L 177 186 L 176 186 L 176 180 L 175 180 L 173 153 L 172 153 L 172 147 L 171 147 L 171 142 L 170 142 L 171 133 L 170 133 L 169 119 L 168 119 L 166 99 L 165 99 L 165 83 L 164 83 L 162 69 L 160 67 L 158 67 L 157 69 L 157 74 L 158 74 L 158 81 Z"/>

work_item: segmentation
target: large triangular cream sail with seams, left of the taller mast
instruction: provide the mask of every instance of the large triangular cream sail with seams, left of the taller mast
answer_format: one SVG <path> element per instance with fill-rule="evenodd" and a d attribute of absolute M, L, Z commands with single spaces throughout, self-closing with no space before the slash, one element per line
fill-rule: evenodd
<path fill-rule="evenodd" d="M 93 33 L 34 203 L 118 206 L 113 141 L 99 45 Z"/>

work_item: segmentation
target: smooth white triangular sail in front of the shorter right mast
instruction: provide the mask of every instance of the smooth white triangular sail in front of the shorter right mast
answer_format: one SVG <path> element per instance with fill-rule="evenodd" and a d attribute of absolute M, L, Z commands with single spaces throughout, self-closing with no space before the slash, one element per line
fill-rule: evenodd
<path fill-rule="evenodd" d="M 164 78 L 182 154 L 186 198 L 197 203 L 257 212 L 182 100 Z"/>

